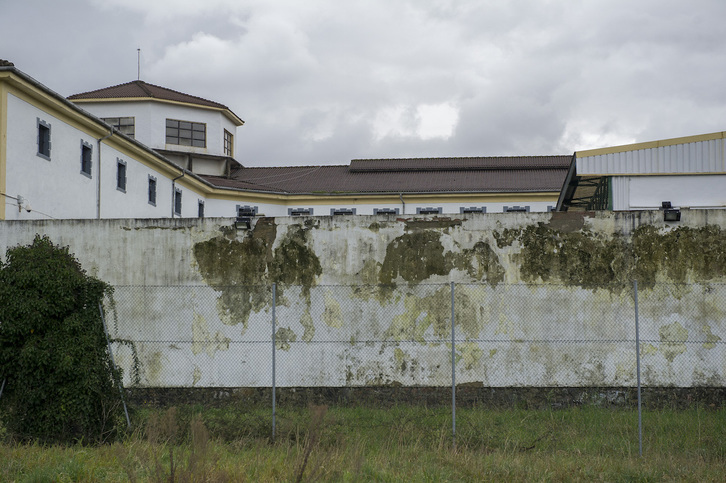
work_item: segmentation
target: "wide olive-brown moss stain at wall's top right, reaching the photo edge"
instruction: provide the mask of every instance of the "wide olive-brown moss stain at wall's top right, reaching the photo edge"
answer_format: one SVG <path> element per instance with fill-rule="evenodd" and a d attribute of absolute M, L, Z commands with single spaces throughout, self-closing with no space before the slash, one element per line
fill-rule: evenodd
<path fill-rule="evenodd" d="M 638 280 L 652 288 L 658 277 L 674 283 L 709 281 L 726 276 L 726 232 L 708 225 L 662 231 L 653 225 L 636 228 L 630 239 L 588 229 L 560 231 L 538 223 L 495 231 L 502 249 L 519 243 L 522 279 L 562 282 L 586 289 L 605 286 L 619 292 Z"/>

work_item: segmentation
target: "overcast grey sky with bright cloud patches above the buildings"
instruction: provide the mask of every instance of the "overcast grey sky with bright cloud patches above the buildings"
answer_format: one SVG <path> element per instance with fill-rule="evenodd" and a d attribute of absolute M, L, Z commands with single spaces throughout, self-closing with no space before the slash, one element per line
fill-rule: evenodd
<path fill-rule="evenodd" d="M 227 105 L 246 166 L 571 154 L 726 131 L 723 0 L 0 0 L 0 58 L 68 96 Z"/>

